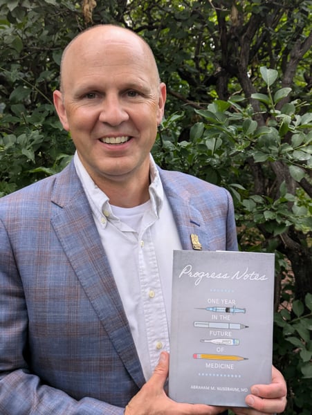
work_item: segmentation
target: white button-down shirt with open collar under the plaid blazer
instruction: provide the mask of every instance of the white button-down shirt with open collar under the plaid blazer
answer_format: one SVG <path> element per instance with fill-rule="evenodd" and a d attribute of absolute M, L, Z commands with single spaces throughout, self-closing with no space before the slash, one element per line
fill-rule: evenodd
<path fill-rule="evenodd" d="M 172 255 L 181 249 L 176 225 L 151 156 L 150 199 L 134 208 L 112 206 L 75 154 L 103 248 L 125 308 L 146 380 L 160 351 L 169 351 Z"/>

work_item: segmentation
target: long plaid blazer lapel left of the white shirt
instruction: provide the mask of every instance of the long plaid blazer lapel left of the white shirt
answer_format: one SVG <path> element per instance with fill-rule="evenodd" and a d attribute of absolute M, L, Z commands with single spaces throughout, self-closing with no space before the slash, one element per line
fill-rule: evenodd
<path fill-rule="evenodd" d="M 107 335 L 129 374 L 142 387 L 143 371 L 89 202 L 73 163 L 66 171 L 55 183 L 52 202 L 61 209 L 51 223 Z"/>

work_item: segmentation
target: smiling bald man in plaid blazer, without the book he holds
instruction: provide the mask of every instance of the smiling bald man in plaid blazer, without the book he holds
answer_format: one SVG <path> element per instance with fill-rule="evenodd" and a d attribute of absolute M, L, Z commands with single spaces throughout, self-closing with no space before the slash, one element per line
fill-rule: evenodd
<path fill-rule="evenodd" d="M 64 51 L 54 102 L 73 162 L 0 203 L 1 414 L 223 411 L 164 390 L 172 251 L 192 249 L 192 233 L 237 249 L 228 192 L 154 165 L 165 98 L 129 30 L 96 26 Z M 252 391 L 236 414 L 284 409 L 276 369 Z"/>

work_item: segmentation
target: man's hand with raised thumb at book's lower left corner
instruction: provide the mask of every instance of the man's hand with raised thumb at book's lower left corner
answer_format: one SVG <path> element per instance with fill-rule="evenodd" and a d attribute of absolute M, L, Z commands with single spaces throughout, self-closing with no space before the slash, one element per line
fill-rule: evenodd
<path fill-rule="evenodd" d="M 125 415 L 217 415 L 225 408 L 176 403 L 165 394 L 169 354 L 162 352 L 158 365 L 142 389 L 129 402 Z"/>

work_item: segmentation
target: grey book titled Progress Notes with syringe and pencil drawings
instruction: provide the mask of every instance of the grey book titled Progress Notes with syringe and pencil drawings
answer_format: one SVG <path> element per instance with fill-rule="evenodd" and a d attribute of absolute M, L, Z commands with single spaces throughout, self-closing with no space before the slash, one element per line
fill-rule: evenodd
<path fill-rule="evenodd" d="M 175 250 L 169 397 L 246 407 L 272 379 L 275 255 Z"/>

